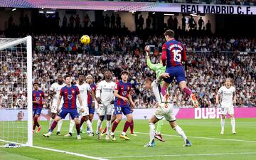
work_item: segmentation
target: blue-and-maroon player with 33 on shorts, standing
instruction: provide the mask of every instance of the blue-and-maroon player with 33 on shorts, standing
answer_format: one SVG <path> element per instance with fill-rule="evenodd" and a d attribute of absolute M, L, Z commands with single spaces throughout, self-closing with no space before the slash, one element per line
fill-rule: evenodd
<path fill-rule="evenodd" d="M 122 80 L 117 82 L 114 88 L 114 112 L 117 114 L 117 118 L 114 120 L 112 130 L 110 132 L 110 136 L 113 141 L 116 140 L 114 137 L 114 130 L 117 128 L 119 122 L 121 122 L 122 114 L 124 114 L 127 117 L 127 122 L 125 122 L 124 124 L 124 129 L 122 134 L 120 135 L 120 138 L 129 140 L 129 137 L 127 137 L 126 132 L 133 121 L 132 111 L 129 105 L 132 105 L 132 108 L 135 107 L 135 104 L 132 101 L 132 96 L 130 94 L 132 85 L 130 82 L 127 82 L 128 71 L 122 71 L 121 78 Z"/>

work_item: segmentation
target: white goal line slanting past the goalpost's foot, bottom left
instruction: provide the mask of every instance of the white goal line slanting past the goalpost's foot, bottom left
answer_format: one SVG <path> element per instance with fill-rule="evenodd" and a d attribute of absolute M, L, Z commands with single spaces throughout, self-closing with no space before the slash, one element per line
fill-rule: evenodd
<path fill-rule="evenodd" d="M 11 143 L 11 144 L 20 144 L 18 142 L 10 142 L 10 141 L 5 141 L 5 140 L 2 140 L 0 139 L 0 141 L 2 142 L 7 142 L 7 143 Z M 26 144 L 20 144 L 21 146 L 26 146 Z M 44 147 L 41 147 L 41 146 L 31 146 L 32 148 L 36 148 L 36 149 L 45 149 L 45 150 L 48 150 L 48 151 L 56 151 L 56 152 L 60 152 L 60 153 L 63 153 L 63 154 L 71 154 L 71 155 L 75 155 L 75 156 L 82 156 L 82 157 L 85 157 L 87 159 L 97 159 L 97 160 L 108 160 L 108 159 L 103 159 L 103 158 L 100 158 L 100 157 L 95 157 L 95 156 L 87 156 L 85 154 L 77 154 L 77 153 L 74 153 L 74 152 L 70 152 L 70 151 L 63 151 L 63 150 L 58 150 L 58 149 L 49 149 L 49 148 L 44 148 Z"/>

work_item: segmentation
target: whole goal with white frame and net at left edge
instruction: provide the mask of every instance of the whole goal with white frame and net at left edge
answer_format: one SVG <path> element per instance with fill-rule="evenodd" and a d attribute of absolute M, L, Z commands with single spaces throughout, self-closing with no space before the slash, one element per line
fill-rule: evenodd
<path fill-rule="evenodd" d="M 32 146 L 32 44 L 0 38 L 0 146 Z"/>

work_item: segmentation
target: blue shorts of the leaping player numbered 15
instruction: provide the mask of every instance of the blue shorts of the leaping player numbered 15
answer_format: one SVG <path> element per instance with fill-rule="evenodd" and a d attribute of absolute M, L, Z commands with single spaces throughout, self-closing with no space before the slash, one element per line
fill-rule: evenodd
<path fill-rule="evenodd" d="M 166 68 L 165 73 L 169 73 L 169 75 L 170 75 L 170 78 L 164 78 L 164 82 L 168 82 L 169 84 L 174 80 L 174 78 L 176 78 L 176 80 L 178 82 L 186 80 L 185 73 L 184 73 L 182 65 L 178 65 L 176 67 Z"/>

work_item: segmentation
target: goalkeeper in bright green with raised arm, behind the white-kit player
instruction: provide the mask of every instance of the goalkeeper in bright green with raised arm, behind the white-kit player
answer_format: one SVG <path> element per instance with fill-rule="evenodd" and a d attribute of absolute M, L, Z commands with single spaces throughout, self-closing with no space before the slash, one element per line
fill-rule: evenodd
<path fill-rule="evenodd" d="M 148 67 L 151 70 L 154 70 L 154 73 L 156 73 L 156 79 L 158 79 L 159 75 L 161 73 L 165 73 L 166 66 L 163 66 L 163 64 L 161 62 L 160 63 L 156 63 L 156 64 L 151 63 L 151 60 L 150 60 L 150 57 L 149 57 L 149 48 L 147 48 L 147 47 L 149 47 L 149 46 L 145 47 L 145 51 L 146 51 L 146 64 L 148 65 Z M 164 124 L 164 119 L 160 120 L 157 123 L 156 134 L 155 134 L 155 138 L 159 139 L 159 141 L 161 141 L 161 142 L 165 142 L 165 140 L 161 137 L 161 127 L 163 126 L 163 124 Z"/>

